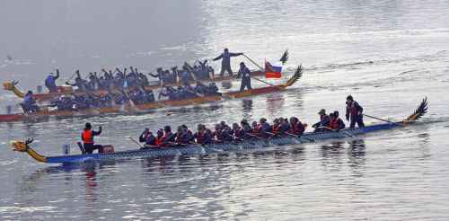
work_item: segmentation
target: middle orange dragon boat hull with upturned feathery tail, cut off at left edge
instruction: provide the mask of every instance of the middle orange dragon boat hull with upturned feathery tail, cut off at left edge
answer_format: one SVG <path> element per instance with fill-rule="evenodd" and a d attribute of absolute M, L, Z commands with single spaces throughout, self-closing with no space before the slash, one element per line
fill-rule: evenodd
<path fill-rule="evenodd" d="M 260 95 L 263 93 L 274 93 L 278 91 L 285 90 L 287 87 L 292 86 L 295 82 L 303 75 L 303 67 L 298 66 L 295 74 L 288 79 L 286 84 L 272 85 L 269 87 L 261 87 L 252 89 L 249 91 L 242 92 L 229 92 L 214 95 L 198 96 L 194 98 L 184 99 L 184 100 L 168 100 L 160 102 L 147 102 L 139 103 L 136 105 L 122 105 L 122 106 L 111 106 L 111 107 L 101 107 L 101 108 L 91 108 L 83 110 L 50 110 L 50 111 L 40 111 L 40 112 L 27 112 L 27 113 L 15 113 L 15 114 L 1 114 L 0 122 L 5 121 L 17 121 L 22 119 L 39 119 L 49 116 L 84 116 L 89 114 L 104 114 L 104 113 L 118 113 L 122 111 L 143 111 L 143 110 L 154 110 L 164 107 L 174 107 L 174 106 L 186 106 L 191 104 L 201 104 L 208 102 L 218 102 L 226 99 L 236 99 L 242 97 L 250 97 L 255 95 Z"/>

